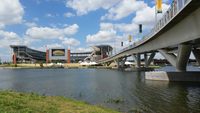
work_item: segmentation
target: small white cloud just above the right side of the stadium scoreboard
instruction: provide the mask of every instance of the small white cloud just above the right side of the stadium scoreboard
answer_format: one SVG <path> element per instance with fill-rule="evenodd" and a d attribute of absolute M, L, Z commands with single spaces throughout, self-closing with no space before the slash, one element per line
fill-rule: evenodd
<path fill-rule="evenodd" d="M 68 45 L 68 46 L 78 46 L 78 45 L 80 45 L 80 41 L 78 41 L 75 38 L 64 38 L 62 43 L 64 45 Z"/>

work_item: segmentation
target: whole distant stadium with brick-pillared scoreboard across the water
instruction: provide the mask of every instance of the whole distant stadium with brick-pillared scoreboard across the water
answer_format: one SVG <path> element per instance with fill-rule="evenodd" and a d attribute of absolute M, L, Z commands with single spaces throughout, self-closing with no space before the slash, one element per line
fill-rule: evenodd
<path fill-rule="evenodd" d="M 111 55 L 113 48 L 109 45 L 92 46 L 91 52 L 71 53 L 69 49 L 51 48 L 46 52 L 34 50 L 24 45 L 11 45 L 13 50 L 13 63 L 36 63 L 36 62 L 78 62 L 97 61 Z"/>

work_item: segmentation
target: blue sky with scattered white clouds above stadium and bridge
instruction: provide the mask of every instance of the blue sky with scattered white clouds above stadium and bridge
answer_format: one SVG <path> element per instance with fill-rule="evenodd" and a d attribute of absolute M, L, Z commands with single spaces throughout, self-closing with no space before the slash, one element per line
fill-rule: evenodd
<path fill-rule="evenodd" d="M 163 0 L 163 12 L 170 2 Z M 155 24 L 154 0 L 0 0 L 0 59 L 11 60 L 10 45 L 84 52 L 109 44 L 120 50 L 121 42 L 140 40 L 139 24 L 142 35 Z"/>

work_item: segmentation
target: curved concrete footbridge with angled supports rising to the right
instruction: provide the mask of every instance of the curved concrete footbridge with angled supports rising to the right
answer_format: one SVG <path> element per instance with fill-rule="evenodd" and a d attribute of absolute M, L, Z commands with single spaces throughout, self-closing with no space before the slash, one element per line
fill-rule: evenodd
<path fill-rule="evenodd" d="M 115 61 L 118 67 L 123 67 L 127 57 L 132 56 L 137 68 L 140 68 L 141 55 L 144 55 L 147 68 L 159 52 L 177 72 L 186 72 L 191 52 L 200 63 L 199 6 L 200 0 L 174 0 L 169 10 L 144 39 L 97 63 L 109 65 Z"/>

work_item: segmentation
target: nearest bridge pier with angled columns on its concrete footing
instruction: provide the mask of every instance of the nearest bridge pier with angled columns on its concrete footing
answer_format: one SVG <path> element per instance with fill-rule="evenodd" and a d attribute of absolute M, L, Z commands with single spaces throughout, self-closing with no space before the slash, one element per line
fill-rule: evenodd
<path fill-rule="evenodd" d="M 196 48 L 192 50 L 192 45 L 178 45 L 177 55 L 165 49 L 159 50 L 159 52 L 172 64 L 172 66 L 176 67 L 176 72 L 145 72 L 145 79 L 200 82 L 200 72 L 187 72 L 186 69 L 191 51 L 200 63 L 200 50 L 197 50 Z"/>

